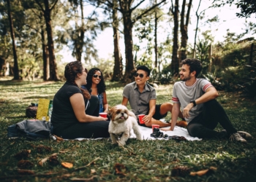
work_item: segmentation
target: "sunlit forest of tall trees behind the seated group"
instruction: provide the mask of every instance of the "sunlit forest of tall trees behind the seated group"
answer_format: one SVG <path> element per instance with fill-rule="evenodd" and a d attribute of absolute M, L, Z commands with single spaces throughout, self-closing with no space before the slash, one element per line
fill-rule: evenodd
<path fill-rule="evenodd" d="M 57 53 L 68 47 L 75 60 L 101 68 L 111 81 L 131 82 L 135 67 L 143 64 L 153 70 L 152 83 L 167 84 L 176 80 L 181 60 L 198 58 L 203 63 L 200 76 L 218 90 L 241 91 L 255 98 L 256 22 L 246 21 L 243 33 L 227 30 L 225 41 L 217 43 L 203 25 L 220 18 L 216 14 L 205 20 L 208 9 L 227 4 L 237 7 L 237 17 L 256 17 L 256 2 L 209 2 L 211 6 L 201 10 L 202 0 L 0 0 L 0 75 L 60 80 L 66 63 Z M 190 20 L 192 7 L 197 9 L 196 22 Z M 171 30 L 165 41 L 159 41 L 162 24 Z M 196 24 L 194 37 L 188 36 L 191 24 Z M 105 28 L 113 29 L 113 55 L 98 59 L 94 41 Z M 188 39 L 194 39 L 194 44 Z"/>

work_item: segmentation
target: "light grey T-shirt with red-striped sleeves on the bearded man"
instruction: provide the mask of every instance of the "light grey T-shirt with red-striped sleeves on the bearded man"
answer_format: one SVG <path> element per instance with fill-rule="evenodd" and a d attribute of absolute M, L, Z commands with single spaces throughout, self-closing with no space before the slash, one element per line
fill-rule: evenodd
<path fill-rule="evenodd" d="M 187 86 L 185 82 L 176 82 L 173 86 L 173 103 L 181 104 L 181 111 L 190 103 L 191 100 L 200 98 L 208 89 L 208 87 L 214 87 L 206 79 L 197 79 L 195 84 Z M 203 103 L 197 104 L 197 106 L 191 108 L 189 111 L 189 117 L 185 118 L 187 122 L 190 122 L 200 112 L 203 111 Z"/>

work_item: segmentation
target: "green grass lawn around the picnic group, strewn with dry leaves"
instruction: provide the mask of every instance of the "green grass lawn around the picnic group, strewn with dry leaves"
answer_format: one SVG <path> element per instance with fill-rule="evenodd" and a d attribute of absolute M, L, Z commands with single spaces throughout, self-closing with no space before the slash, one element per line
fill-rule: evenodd
<path fill-rule="evenodd" d="M 0 181 L 70 181 L 75 178 L 91 178 L 91 181 L 256 181 L 256 142 L 231 142 L 228 140 L 203 141 L 136 141 L 129 139 L 124 148 L 113 146 L 109 139 L 99 141 L 28 141 L 25 138 L 7 139 L 7 127 L 26 119 L 25 110 L 39 98 L 53 99 L 63 82 L 14 82 L 0 80 Z M 110 106 L 121 103 L 123 84 L 108 85 Z M 157 103 L 170 101 L 172 85 L 157 88 Z M 238 93 L 222 92 L 219 102 L 238 130 L 256 136 L 256 103 L 241 98 Z M 167 115 L 170 119 L 170 114 Z M 222 130 L 217 127 L 216 130 Z M 37 151 L 38 146 L 48 146 L 51 151 Z M 24 159 L 33 163 L 26 170 L 34 175 L 18 173 L 14 156 L 23 150 L 31 150 Z M 58 153 L 59 162 L 71 162 L 74 167 L 40 159 Z M 95 162 L 92 162 L 95 159 Z M 90 164 L 90 162 L 92 162 Z M 90 164 L 90 165 L 89 165 Z M 124 165 L 116 174 L 114 166 Z M 173 167 L 189 167 L 191 171 L 217 167 L 214 173 L 202 176 L 171 176 Z M 79 168 L 80 167 L 80 168 Z"/>

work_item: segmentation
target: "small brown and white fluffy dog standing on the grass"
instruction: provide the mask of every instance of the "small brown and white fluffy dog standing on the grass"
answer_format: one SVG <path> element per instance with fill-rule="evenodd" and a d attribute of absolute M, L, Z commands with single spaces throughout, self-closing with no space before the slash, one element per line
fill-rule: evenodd
<path fill-rule="evenodd" d="M 108 111 L 108 116 L 110 117 L 108 132 L 113 144 L 118 143 L 118 146 L 124 146 L 130 135 L 132 135 L 132 130 L 136 138 L 142 140 L 137 118 L 126 106 L 121 104 L 113 106 Z"/>

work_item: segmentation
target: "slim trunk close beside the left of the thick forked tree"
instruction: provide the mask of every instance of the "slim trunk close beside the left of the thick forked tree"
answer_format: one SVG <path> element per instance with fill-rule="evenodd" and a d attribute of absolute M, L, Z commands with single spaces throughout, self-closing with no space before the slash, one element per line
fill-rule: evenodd
<path fill-rule="evenodd" d="M 47 44 L 45 44 L 45 31 L 43 30 L 43 27 L 41 27 L 41 39 L 42 39 L 42 61 L 44 66 L 43 79 L 46 81 L 50 77 L 50 70 L 49 70 L 48 49 L 47 49 Z"/>

